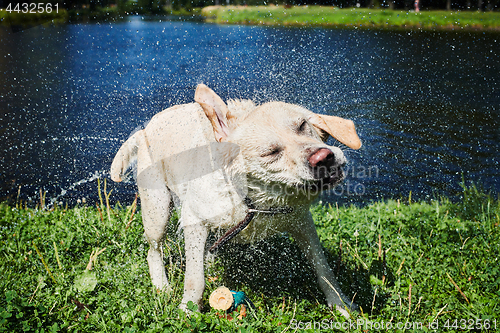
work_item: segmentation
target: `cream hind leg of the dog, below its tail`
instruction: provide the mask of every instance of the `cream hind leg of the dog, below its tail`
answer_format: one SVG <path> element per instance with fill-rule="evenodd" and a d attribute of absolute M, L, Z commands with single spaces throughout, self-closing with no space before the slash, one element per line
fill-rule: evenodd
<path fill-rule="evenodd" d="M 163 265 L 163 241 L 170 220 L 171 194 L 161 169 L 151 166 L 137 176 L 142 206 L 142 222 L 149 243 L 148 265 L 153 285 L 158 290 L 169 288 Z"/>

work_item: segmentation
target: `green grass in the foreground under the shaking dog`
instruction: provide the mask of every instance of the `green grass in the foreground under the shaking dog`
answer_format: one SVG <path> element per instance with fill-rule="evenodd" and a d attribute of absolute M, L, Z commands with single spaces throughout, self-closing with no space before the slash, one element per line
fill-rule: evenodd
<path fill-rule="evenodd" d="M 93 207 L 47 209 L 43 198 L 37 208 L 0 205 L 0 331 L 293 332 L 307 323 L 349 323 L 324 305 L 286 236 L 223 251 L 206 269 L 204 308 L 186 317 L 177 309 L 184 258 L 175 223 L 165 244 L 172 291 L 157 294 L 140 212 L 109 207 L 108 196 Z M 424 331 L 439 323 L 440 332 L 459 330 L 455 319 L 500 327 L 498 199 L 471 186 L 458 203 L 319 203 L 311 211 L 342 288 L 362 307 L 353 320 L 420 322 Z M 244 291 L 255 312 L 243 320 L 221 318 L 208 306 L 220 285 Z"/>

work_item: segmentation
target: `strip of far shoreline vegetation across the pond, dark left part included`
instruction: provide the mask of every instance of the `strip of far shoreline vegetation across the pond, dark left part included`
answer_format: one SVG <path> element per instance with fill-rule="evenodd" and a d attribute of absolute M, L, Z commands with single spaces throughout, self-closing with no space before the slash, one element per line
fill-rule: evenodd
<path fill-rule="evenodd" d="M 199 20 L 216 24 L 245 24 L 282 27 L 325 27 L 353 29 L 412 29 L 454 31 L 500 31 L 500 12 L 338 8 L 332 6 L 208 6 L 203 8 L 162 7 L 145 11 L 129 7 L 59 9 L 51 13 L 0 11 L 0 25 L 23 30 L 40 24 L 119 22 L 130 15 L 149 18 Z"/>

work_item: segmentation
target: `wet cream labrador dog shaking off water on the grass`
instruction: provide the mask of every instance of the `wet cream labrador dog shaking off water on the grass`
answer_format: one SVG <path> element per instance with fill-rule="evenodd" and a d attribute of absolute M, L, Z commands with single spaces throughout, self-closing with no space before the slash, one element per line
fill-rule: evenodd
<path fill-rule="evenodd" d="M 153 285 L 169 287 L 162 241 L 175 203 L 186 251 L 181 308 L 189 301 L 200 304 L 209 230 L 229 230 L 211 250 L 232 237 L 251 242 L 288 232 L 314 268 L 328 305 L 347 315 L 345 309 L 357 306 L 327 263 L 309 205 L 344 178 L 346 159 L 324 143 L 328 134 L 350 148 L 361 147 L 353 122 L 281 102 L 226 105 L 203 84 L 194 99 L 155 115 L 122 145 L 111 165 L 111 178 L 119 182 L 137 160 Z"/>

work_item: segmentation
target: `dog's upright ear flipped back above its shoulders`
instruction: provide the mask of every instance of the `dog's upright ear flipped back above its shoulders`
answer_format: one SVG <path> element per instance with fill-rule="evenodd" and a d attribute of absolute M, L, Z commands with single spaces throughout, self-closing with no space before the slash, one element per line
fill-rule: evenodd
<path fill-rule="evenodd" d="M 201 105 L 212 123 L 215 139 L 219 142 L 224 141 L 229 135 L 229 121 L 232 118 L 226 103 L 204 84 L 196 87 L 194 100 Z"/>

